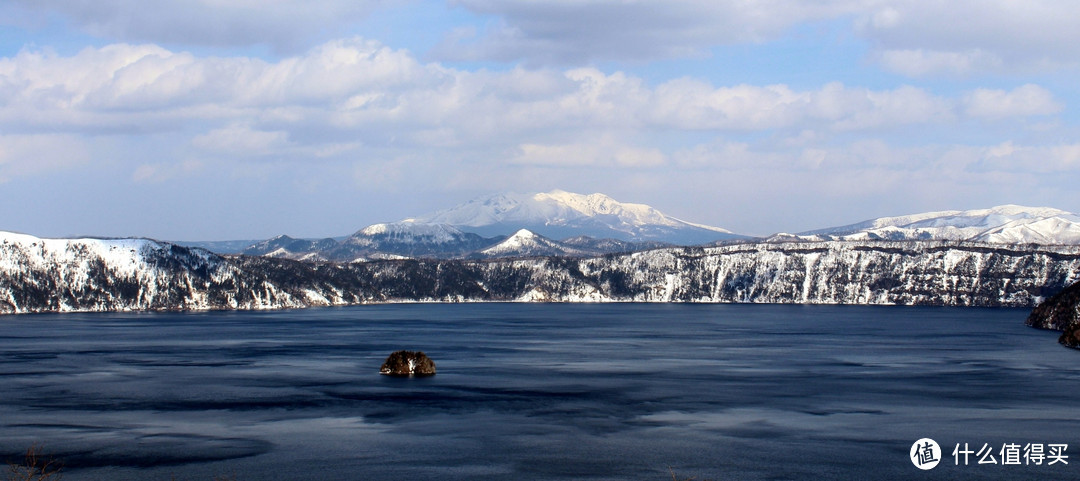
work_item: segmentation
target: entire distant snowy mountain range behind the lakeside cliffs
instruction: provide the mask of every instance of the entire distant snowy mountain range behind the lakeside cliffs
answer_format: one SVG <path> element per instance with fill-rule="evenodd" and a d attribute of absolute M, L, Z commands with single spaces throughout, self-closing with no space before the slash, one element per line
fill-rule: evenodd
<path fill-rule="evenodd" d="M 239 242 L 183 244 L 218 253 L 365 262 L 420 257 L 585 257 L 671 245 L 837 240 L 1074 245 L 1080 244 L 1080 216 L 1050 208 L 1000 205 L 879 217 L 760 238 L 681 221 L 649 205 L 619 202 L 603 193 L 585 196 L 554 190 L 483 197 L 432 214 L 367 226 L 337 239 L 279 236 L 249 242 L 243 249 L 237 249 Z"/>

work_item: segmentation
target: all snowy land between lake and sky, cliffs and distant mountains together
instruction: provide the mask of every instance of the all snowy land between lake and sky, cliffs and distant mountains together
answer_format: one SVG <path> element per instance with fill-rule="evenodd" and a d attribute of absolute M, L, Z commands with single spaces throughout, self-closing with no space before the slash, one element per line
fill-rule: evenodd
<path fill-rule="evenodd" d="M 748 238 L 598 196 L 580 197 L 607 202 L 603 209 L 551 210 L 551 199 L 580 200 L 556 193 L 509 210 L 470 208 L 481 212 L 472 216 L 447 210 L 376 224 L 338 239 L 279 236 L 249 245 L 252 255 L 0 231 L 0 313 L 490 300 L 1035 306 L 1080 279 L 1080 218 L 1055 209 L 943 211 Z M 567 232 L 607 226 L 593 232 L 623 239 L 465 230 L 509 227 L 510 218 Z M 717 239 L 678 246 L 650 238 L 663 229 Z M 1054 297 L 1028 323 L 1064 329 L 1063 343 L 1080 347 L 1078 292 Z"/>

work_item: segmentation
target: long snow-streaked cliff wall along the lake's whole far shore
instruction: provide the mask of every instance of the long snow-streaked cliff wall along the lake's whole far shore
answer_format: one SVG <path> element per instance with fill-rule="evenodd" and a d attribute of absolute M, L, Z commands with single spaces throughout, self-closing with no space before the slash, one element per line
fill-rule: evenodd
<path fill-rule="evenodd" d="M 1078 275 L 1075 246 L 759 243 L 585 259 L 327 264 L 148 240 L 9 236 L 0 312 L 484 300 L 1034 306 Z"/>

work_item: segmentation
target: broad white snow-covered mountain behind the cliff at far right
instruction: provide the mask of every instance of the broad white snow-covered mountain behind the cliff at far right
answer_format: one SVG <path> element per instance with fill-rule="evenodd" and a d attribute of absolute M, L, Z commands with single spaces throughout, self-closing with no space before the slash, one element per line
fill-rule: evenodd
<path fill-rule="evenodd" d="M 772 238 L 774 241 L 931 239 L 1080 244 L 1080 216 L 1050 208 L 999 205 L 972 211 L 941 211 L 880 217 L 848 226 L 799 235 L 777 235 Z"/>

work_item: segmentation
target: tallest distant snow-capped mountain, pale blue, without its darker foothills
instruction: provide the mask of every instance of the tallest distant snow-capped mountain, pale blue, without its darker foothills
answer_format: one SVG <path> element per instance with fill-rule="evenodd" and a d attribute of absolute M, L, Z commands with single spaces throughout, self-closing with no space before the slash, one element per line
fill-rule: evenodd
<path fill-rule="evenodd" d="M 406 222 L 449 224 L 483 236 L 528 229 L 552 239 L 590 236 L 684 245 L 741 237 L 719 227 L 664 215 L 645 204 L 619 202 L 603 193 L 584 196 L 564 190 L 489 196 Z"/>

